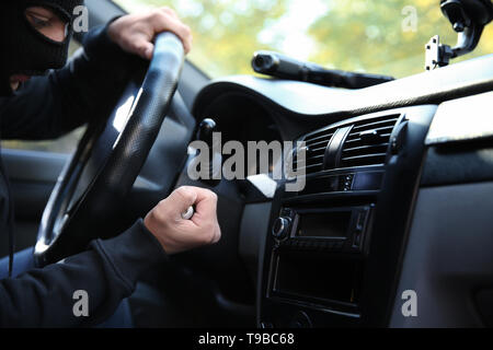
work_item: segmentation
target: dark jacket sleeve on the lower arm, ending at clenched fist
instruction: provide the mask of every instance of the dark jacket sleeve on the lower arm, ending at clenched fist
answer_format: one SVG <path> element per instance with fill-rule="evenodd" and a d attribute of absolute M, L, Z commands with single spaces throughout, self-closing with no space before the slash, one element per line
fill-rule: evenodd
<path fill-rule="evenodd" d="M 139 220 L 122 235 L 93 241 L 90 249 L 43 269 L 0 282 L 0 327 L 94 326 L 135 290 L 139 276 L 168 259 Z M 73 313 L 76 291 L 85 291 L 89 316 Z"/>

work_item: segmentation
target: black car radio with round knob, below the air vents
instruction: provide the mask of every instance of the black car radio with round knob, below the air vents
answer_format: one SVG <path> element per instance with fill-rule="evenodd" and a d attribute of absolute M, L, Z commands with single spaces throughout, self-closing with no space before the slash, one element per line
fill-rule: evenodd
<path fill-rule="evenodd" d="M 374 205 L 332 209 L 283 208 L 277 221 L 284 234 L 274 231 L 276 245 L 298 250 L 364 253 Z"/>

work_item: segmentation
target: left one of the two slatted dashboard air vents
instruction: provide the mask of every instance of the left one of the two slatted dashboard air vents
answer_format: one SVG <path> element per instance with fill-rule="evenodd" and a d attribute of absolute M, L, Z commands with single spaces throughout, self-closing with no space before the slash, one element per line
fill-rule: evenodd
<path fill-rule="evenodd" d="M 325 149 L 334 133 L 334 129 L 324 129 L 307 136 L 305 138 L 305 145 L 307 147 L 306 164 L 302 164 L 301 161 L 298 163 L 298 160 L 295 160 L 295 168 L 299 171 L 299 168 L 305 166 L 307 175 L 321 172 Z"/>

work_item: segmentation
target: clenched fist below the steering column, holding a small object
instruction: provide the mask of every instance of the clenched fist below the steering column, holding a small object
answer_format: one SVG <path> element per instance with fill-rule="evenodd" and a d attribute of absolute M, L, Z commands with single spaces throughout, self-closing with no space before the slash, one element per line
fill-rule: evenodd
<path fill-rule="evenodd" d="M 182 213 L 191 206 L 195 214 L 185 220 Z M 169 255 L 215 244 L 221 237 L 217 196 L 204 188 L 180 187 L 147 214 L 144 224 Z"/>

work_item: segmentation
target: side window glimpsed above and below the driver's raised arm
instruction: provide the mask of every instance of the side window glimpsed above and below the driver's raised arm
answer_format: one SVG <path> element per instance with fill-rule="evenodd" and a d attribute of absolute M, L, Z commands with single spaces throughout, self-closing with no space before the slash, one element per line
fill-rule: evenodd
<path fill-rule="evenodd" d="M 72 56 L 81 45 L 72 40 L 70 43 L 69 55 Z M 55 152 L 55 153 L 72 153 L 77 144 L 84 132 L 85 127 L 81 127 L 69 135 L 66 135 L 57 140 L 53 141 L 20 141 L 20 140 L 9 140 L 2 141 L 2 148 L 4 149 L 15 149 L 15 150 L 31 150 L 31 151 L 43 151 L 43 152 Z"/>

